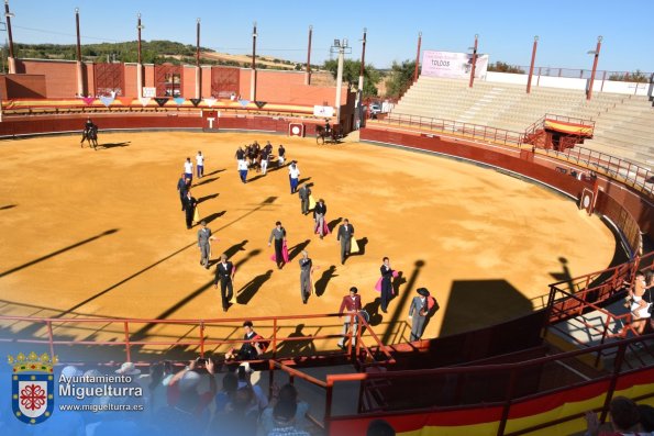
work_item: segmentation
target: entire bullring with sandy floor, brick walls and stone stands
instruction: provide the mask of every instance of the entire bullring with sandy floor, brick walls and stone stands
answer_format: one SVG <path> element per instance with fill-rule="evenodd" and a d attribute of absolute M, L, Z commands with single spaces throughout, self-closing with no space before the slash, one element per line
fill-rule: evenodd
<path fill-rule="evenodd" d="M 458 55 L 476 66 L 476 47 Z M 376 420 L 406 436 L 569 435 L 585 431 L 587 411 L 606 423 L 616 396 L 654 405 L 652 325 L 624 305 L 654 267 L 651 86 L 597 65 L 574 77 L 472 68 L 469 81 L 417 68 L 378 114 L 308 70 L 10 53 L 0 378 L 11 383 L 0 383 L 0 434 L 245 435 L 225 425 L 248 422 L 239 395 L 252 385 L 259 409 L 243 407 L 265 434 L 266 413 L 288 405 L 277 392 L 286 383 L 309 410 L 285 423 L 315 436 L 364 435 Z M 80 146 L 91 120 L 98 146 Z M 325 121 L 335 134 L 322 144 Z M 255 141 L 269 141 L 273 157 L 243 183 L 235 153 Z M 189 230 L 176 186 L 199 150 Z M 290 192 L 291 160 L 328 206 L 324 238 Z M 345 219 L 359 249 L 342 262 Z M 200 221 L 215 237 L 207 269 Z M 276 221 L 282 268 L 268 244 Z M 314 267 L 307 304 L 302 250 Z M 214 288 L 221 254 L 236 268 L 226 311 Z M 375 284 L 386 256 L 398 273 L 384 312 Z M 351 287 L 363 311 L 342 316 Z M 423 288 L 433 300 L 414 338 L 409 308 Z M 357 328 L 344 333 L 347 320 Z M 264 349 L 233 358 L 254 344 L 246 321 Z M 236 368 L 251 380 L 225 388 L 221 406 L 217 391 Z M 66 377 L 84 371 L 137 378 L 129 383 L 146 394 L 76 399 Z"/>

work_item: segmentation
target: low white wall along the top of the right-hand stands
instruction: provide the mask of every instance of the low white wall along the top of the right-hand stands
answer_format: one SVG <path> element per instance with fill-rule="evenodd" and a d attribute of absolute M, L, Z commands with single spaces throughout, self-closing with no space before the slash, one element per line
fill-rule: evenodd
<path fill-rule="evenodd" d="M 529 75 L 518 75 L 512 72 L 496 72 L 488 71 L 486 75 L 486 81 L 499 82 L 499 83 L 514 83 L 524 85 L 526 87 L 526 79 Z M 592 92 L 614 92 L 625 93 L 632 96 L 653 96 L 654 86 L 651 83 L 636 83 L 631 81 L 614 81 L 614 80 L 602 80 L 602 77 L 595 78 L 592 85 Z M 563 88 L 563 89 L 576 89 L 586 90 L 589 86 L 587 79 L 576 79 L 570 77 L 552 77 L 552 76 L 539 76 L 537 70 L 531 79 L 531 86 L 544 87 L 544 88 Z"/>

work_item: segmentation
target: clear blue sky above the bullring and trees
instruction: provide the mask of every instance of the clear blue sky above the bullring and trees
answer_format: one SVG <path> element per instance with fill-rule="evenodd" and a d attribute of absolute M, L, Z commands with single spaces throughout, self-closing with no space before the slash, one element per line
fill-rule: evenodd
<path fill-rule="evenodd" d="M 344 5 L 344 7 L 343 7 Z M 537 66 L 590 69 L 597 36 L 603 42 L 598 69 L 654 71 L 652 4 L 645 0 L 597 1 L 170 1 L 170 0 L 10 0 L 14 42 L 75 43 L 75 8 L 80 9 L 82 44 L 136 40 L 136 13 L 143 38 L 201 44 L 221 52 L 252 49 L 257 21 L 257 53 L 303 62 L 308 26 L 313 25 L 311 62 L 330 57 L 334 38 L 348 38 L 350 57 L 361 58 L 368 30 L 366 63 L 386 68 L 415 57 L 422 48 L 466 52 L 479 34 L 479 52 L 490 62 L 529 65 L 539 35 Z"/>

